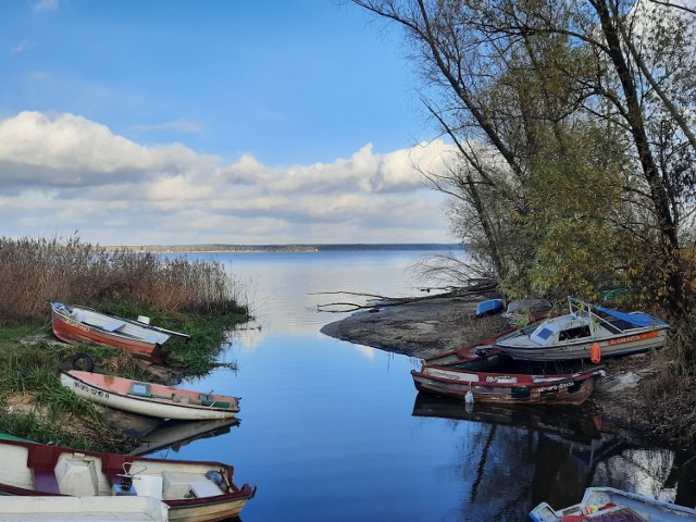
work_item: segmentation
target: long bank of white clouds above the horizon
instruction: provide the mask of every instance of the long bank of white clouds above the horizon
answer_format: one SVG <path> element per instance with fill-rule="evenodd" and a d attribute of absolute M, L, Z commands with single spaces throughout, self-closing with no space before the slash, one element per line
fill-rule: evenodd
<path fill-rule="evenodd" d="M 442 195 L 413 162 L 442 169 L 440 141 L 348 159 L 233 163 L 178 144 L 147 147 L 73 114 L 0 121 L 0 235 L 77 231 L 102 245 L 446 240 Z M 28 229 L 30 228 L 30 229 Z"/>

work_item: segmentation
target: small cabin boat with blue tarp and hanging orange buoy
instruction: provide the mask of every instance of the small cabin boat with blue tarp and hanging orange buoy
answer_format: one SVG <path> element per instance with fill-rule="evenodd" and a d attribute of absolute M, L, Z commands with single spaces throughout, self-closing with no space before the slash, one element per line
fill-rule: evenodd
<path fill-rule="evenodd" d="M 620 357 L 660 349 L 669 324 L 645 312 L 620 312 L 569 298 L 570 313 L 496 339 L 495 346 L 527 361 Z"/>

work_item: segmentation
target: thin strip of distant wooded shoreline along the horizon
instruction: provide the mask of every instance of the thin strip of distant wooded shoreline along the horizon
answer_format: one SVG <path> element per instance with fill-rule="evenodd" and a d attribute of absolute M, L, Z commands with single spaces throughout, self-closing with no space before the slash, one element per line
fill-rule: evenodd
<path fill-rule="evenodd" d="M 350 252 L 399 250 L 461 250 L 460 244 L 337 244 L 337 245 L 130 245 L 107 246 L 107 251 L 154 253 L 260 253 L 260 252 Z"/>

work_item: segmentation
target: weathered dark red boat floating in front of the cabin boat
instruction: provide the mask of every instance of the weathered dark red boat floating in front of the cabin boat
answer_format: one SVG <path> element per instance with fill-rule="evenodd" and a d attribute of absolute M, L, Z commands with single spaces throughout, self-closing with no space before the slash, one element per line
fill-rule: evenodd
<path fill-rule="evenodd" d="M 412 370 L 419 391 L 440 397 L 492 405 L 580 406 L 594 389 L 601 369 L 562 375 L 501 374 L 461 370 L 451 366 L 424 365 Z"/>

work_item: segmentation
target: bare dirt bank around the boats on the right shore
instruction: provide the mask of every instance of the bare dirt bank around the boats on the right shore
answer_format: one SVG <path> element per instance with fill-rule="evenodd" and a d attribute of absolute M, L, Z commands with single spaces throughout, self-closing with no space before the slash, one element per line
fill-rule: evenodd
<path fill-rule="evenodd" d="M 415 358 L 462 347 L 509 327 L 501 316 L 475 318 L 476 303 L 485 296 L 419 300 L 361 311 L 325 325 L 321 332 L 338 339 Z M 644 414 L 652 406 L 642 394 L 646 381 L 659 373 L 654 355 L 602 361 L 607 376 L 599 381 L 584 410 L 608 422 L 660 436 Z"/>

